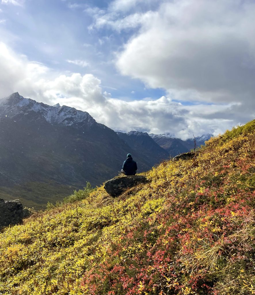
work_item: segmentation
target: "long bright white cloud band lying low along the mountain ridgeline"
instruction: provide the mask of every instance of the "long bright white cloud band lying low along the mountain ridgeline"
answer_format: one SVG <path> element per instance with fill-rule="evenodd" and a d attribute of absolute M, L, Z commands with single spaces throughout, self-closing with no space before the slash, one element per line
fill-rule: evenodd
<path fill-rule="evenodd" d="M 234 116 L 235 103 L 183 105 L 162 96 L 156 100 L 124 101 L 111 98 L 101 81 L 92 74 L 59 73 L 29 61 L 0 43 L 0 97 L 18 91 L 22 96 L 47 104 L 60 103 L 89 112 L 97 122 L 112 129 L 175 133 L 187 138 L 224 132 L 226 128 L 249 119 L 247 113 Z M 133 94 L 135 96 L 135 93 Z"/>

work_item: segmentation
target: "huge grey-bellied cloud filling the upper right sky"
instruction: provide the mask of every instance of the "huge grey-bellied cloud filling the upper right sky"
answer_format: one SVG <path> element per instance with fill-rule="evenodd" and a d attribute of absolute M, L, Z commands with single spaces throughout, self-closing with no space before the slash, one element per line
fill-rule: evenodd
<path fill-rule="evenodd" d="M 117 54 L 121 74 L 180 100 L 255 107 L 254 2 L 167 1 L 150 14 Z"/>

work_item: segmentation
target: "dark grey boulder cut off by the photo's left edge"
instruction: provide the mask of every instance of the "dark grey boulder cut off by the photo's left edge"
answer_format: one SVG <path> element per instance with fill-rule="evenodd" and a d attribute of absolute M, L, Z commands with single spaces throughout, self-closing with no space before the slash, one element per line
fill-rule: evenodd
<path fill-rule="evenodd" d="M 19 200 L 4 201 L 0 199 L 0 228 L 22 224 L 23 207 Z"/>

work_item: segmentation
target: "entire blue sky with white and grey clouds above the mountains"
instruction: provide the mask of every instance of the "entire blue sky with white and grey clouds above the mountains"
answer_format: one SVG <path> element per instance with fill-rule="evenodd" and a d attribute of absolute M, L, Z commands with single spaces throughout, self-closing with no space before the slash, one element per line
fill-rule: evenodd
<path fill-rule="evenodd" d="M 254 0 L 0 0 L 0 97 L 218 135 L 255 119 L 254 15 Z"/>

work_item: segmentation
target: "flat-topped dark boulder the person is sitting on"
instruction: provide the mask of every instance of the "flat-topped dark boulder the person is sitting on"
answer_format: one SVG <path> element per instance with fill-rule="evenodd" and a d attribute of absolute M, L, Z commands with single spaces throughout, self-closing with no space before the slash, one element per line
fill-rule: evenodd
<path fill-rule="evenodd" d="M 112 197 L 117 197 L 121 195 L 126 189 L 136 186 L 139 183 L 146 182 L 148 182 L 148 180 L 145 176 L 123 176 L 106 181 L 104 189 Z"/>

